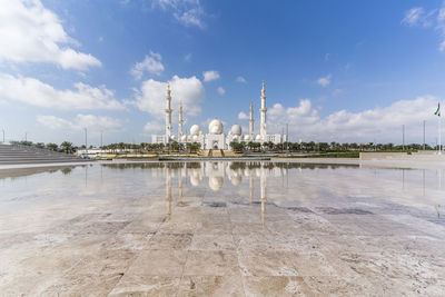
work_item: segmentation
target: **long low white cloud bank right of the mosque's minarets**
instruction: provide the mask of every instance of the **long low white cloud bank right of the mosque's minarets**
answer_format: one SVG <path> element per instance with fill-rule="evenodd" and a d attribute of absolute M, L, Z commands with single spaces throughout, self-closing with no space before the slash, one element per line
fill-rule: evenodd
<path fill-rule="evenodd" d="M 422 122 L 435 130 L 437 117 L 433 115 L 438 99 L 433 96 L 414 100 L 399 100 L 387 107 L 376 107 L 360 112 L 339 110 L 320 117 L 309 99 L 296 107 L 274 105 L 267 112 L 268 130 L 280 132 L 288 123 L 291 140 L 349 141 L 349 142 L 400 142 L 402 125 L 407 131 L 407 142 L 422 141 Z"/>

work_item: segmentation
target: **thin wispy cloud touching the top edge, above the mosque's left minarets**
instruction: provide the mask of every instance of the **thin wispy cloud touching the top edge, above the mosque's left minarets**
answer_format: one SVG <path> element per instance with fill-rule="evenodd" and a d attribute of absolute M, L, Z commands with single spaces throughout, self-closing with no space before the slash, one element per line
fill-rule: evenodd
<path fill-rule="evenodd" d="M 158 6 L 164 10 L 170 10 L 179 23 L 190 27 L 206 27 L 202 18 L 206 16 L 199 0 L 154 0 L 154 7 Z"/>

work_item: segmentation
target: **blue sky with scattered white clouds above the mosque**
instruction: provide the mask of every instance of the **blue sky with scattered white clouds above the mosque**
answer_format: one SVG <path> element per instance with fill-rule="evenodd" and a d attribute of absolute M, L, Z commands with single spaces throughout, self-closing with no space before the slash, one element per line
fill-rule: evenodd
<path fill-rule="evenodd" d="M 266 82 L 268 130 L 291 140 L 435 142 L 443 1 L 0 0 L 7 139 L 149 142 L 165 86 L 186 127 L 228 130 Z M 204 72 L 207 72 L 205 79 Z M 243 113 L 244 112 L 244 113 Z M 177 115 L 174 113 L 174 120 Z M 259 127 L 257 122 L 256 128 Z M 177 126 L 174 126 L 177 131 Z M 256 129 L 258 131 L 258 129 Z"/>

